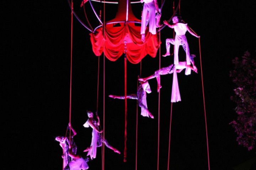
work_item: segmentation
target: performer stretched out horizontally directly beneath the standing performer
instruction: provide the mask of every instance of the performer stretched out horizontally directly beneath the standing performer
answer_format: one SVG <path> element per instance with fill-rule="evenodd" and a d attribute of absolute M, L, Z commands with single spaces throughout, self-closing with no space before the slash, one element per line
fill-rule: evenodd
<path fill-rule="evenodd" d="M 138 79 L 139 81 L 147 81 L 149 79 L 153 79 L 156 78 L 157 82 L 158 82 L 158 92 L 161 89 L 161 85 L 160 85 L 160 75 L 165 75 L 165 74 L 172 74 L 174 72 L 174 69 L 176 69 L 177 73 L 180 73 L 184 68 L 186 68 L 185 70 L 185 74 L 189 75 L 191 74 L 191 70 L 193 70 L 194 72 L 197 73 L 197 68 L 194 64 L 194 58 L 195 55 L 191 55 L 190 56 L 190 61 L 192 63 L 191 65 L 187 65 L 186 61 L 182 61 L 182 62 L 178 62 L 178 64 L 171 64 L 168 67 L 164 67 L 164 68 L 160 68 L 159 70 L 156 70 L 154 74 L 150 75 L 149 77 L 146 78 L 140 78 Z"/>

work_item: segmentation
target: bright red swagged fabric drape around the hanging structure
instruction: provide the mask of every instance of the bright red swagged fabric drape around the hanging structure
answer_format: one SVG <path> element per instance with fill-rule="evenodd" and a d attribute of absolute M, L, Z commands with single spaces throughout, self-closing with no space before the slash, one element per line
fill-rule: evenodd
<path fill-rule="evenodd" d="M 94 33 L 90 33 L 92 50 L 96 56 L 100 56 L 103 52 L 103 44 L 105 41 L 105 56 L 110 61 L 116 61 L 124 53 L 124 41 L 127 41 L 127 59 L 133 63 L 139 63 L 147 54 L 155 57 L 159 48 L 159 33 L 152 35 L 146 29 L 143 43 L 140 35 L 140 26 L 134 23 L 107 24 L 105 27 L 105 37 L 103 38 L 103 29 L 98 28 Z"/>

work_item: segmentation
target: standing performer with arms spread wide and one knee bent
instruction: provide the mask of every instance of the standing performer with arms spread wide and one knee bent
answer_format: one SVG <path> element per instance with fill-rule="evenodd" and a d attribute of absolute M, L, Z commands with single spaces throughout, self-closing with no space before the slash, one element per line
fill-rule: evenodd
<path fill-rule="evenodd" d="M 194 34 L 192 30 L 187 26 L 187 23 L 185 23 L 180 16 L 175 15 L 172 18 L 172 23 L 169 24 L 166 20 L 164 21 L 164 24 L 167 25 L 170 28 L 174 28 L 174 31 L 176 33 L 175 39 L 173 38 L 167 38 L 166 39 L 166 53 L 162 56 L 170 56 L 170 44 L 174 45 L 174 64 L 178 64 L 178 50 L 179 46 L 182 45 L 183 49 L 186 52 L 186 62 L 187 65 L 190 65 L 190 50 L 188 47 L 187 38 L 185 36 L 185 33 L 188 31 L 191 35 L 199 38 L 200 36 Z"/>

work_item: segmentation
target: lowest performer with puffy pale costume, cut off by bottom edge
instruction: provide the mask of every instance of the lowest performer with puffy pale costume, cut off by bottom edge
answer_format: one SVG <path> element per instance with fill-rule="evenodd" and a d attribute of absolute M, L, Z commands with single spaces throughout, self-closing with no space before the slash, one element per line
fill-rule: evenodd
<path fill-rule="evenodd" d="M 84 152 L 87 152 L 91 149 L 92 147 L 87 147 Z M 83 158 L 81 155 L 79 154 L 74 154 L 72 152 L 72 146 L 69 146 L 69 157 L 72 158 L 73 160 L 69 163 L 69 169 L 65 169 L 65 170 L 85 170 L 88 169 L 89 166 L 87 164 L 87 162 L 89 162 L 89 157 L 85 157 Z"/>

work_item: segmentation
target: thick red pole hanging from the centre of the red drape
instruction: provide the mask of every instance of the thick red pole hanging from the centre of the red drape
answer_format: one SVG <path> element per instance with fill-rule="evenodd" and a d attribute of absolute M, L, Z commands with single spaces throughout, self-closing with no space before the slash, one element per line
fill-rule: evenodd
<path fill-rule="evenodd" d="M 124 162 L 127 161 L 127 58 L 126 58 L 126 41 L 124 41 Z"/>

